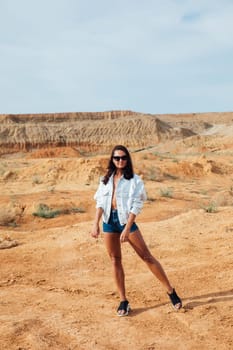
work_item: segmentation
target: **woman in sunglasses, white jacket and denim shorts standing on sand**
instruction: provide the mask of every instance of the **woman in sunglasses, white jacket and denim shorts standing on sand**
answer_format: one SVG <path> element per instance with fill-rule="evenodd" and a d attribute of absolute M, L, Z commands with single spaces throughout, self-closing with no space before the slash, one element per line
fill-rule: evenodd
<path fill-rule="evenodd" d="M 99 222 L 102 217 L 104 240 L 112 260 L 113 273 L 120 296 L 117 315 L 126 316 L 130 311 L 121 259 L 121 243 L 124 242 L 128 242 L 147 264 L 164 286 L 173 307 L 179 310 L 182 307 L 181 299 L 171 286 L 159 261 L 151 255 L 135 223 L 135 218 L 146 200 L 146 192 L 143 181 L 133 172 L 132 160 L 126 147 L 117 145 L 113 148 L 107 173 L 101 179 L 94 199 L 96 200 L 96 216 L 91 234 L 94 238 L 99 236 Z"/>

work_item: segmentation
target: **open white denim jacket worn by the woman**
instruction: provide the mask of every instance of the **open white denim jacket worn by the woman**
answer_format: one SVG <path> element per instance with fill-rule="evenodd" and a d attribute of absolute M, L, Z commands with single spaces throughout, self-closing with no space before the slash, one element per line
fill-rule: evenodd
<path fill-rule="evenodd" d="M 100 179 L 99 187 L 94 195 L 96 208 L 103 209 L 103 221 L 108 223 L 111 214 L 113 195 L 113 175 L 105 185 L 103 179 Z M 146 200 L 146 191 L 144 183 L 140 176 L 134 174 L 134 177 L 127 180 L 122 176 L 116 187 L 117 212 L 121 225 L 127 223 L 129 213 L 139 214 L 143 202 Z"/>

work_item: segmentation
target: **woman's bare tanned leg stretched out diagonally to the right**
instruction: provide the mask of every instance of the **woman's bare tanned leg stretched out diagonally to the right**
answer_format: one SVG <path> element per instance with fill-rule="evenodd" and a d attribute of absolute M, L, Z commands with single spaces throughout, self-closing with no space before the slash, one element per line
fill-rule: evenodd
<path fill-rule="evenodd" d="M 140 230 L 137 230 L 129 235 L 129 243 L 134 248 L 135 252 L 140 258 L 147 264 L 152 273 L 158 278 L 158 280 L 165 287 L 166 291 L 170 294 L 173 288 L 163 270 L 161 264 L 151 255 Z"/>

